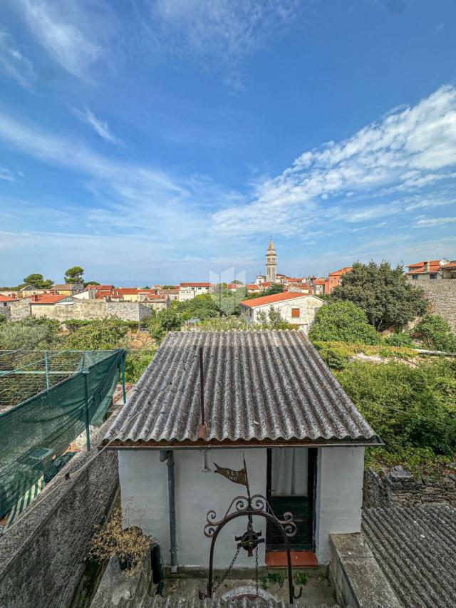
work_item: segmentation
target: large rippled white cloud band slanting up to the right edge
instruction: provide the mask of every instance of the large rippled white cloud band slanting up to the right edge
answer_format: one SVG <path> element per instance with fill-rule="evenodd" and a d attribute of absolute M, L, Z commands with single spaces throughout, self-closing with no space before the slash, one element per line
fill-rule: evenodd
<path fill-rule="evenodd" d="M 348 140 L 303 153 L 259 186 L 249 204 L 215 212 L 214 228 L 225 234 L 302 234 L 348 193 L 352 200 L 353 193 L 363 197 L 363 205 L 348 211 L 347 221 L 382 217 L 395 212 L 395 204 L 370 203 L 385 188 L 409 182 L 414 190 L 437 177 L 454 182 L 449 170 L 455 165 L 456 89 L 442 86 L 413 108 L 386 115 Z"/>

